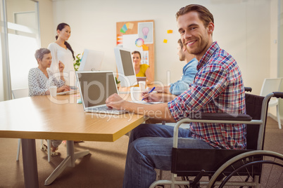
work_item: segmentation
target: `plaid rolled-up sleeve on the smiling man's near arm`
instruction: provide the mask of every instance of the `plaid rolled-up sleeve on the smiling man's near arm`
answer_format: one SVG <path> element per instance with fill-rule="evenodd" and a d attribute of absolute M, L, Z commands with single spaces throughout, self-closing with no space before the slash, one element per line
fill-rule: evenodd
<path fill-rule="evenodd" d="M 225 111 L 225 107 L 218 105 L 215 99 L 227 88 L 229 84 L 227 76 L 227 69 L 220 65 L 208 65 L 199 70 L 191 87 L 168 102 L 168 107 L 175 120 L 178 121 L 200 112 L 209 102 L 218 106 L 220 111 Z"/>

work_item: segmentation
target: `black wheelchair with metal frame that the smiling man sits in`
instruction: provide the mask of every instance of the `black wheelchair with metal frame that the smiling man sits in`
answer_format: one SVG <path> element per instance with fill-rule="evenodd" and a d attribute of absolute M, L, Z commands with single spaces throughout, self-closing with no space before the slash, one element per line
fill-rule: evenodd
<path fill-rule="evenodd" d="M 199 119 L 178 121 L 174 128 L 171 179 L 157 180 L 150 188 L 283 187 L 283 155 L 263 150 L 268 102 L 272 97 L 283 98 L 283 93 L 270 93 L 265 98 L 246 93 L 246 114 L 203 113 Z M 244 123 L 247 149 L 178 149 L 178 129 L 182 123 L 191 122 Z M 182 180 L 176 180 L 177 177 Z"/>

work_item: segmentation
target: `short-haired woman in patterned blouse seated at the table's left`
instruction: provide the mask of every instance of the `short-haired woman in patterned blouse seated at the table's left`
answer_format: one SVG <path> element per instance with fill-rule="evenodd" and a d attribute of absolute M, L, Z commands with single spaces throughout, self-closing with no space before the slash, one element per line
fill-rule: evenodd
<path fill-rule="evenodd" d="M 38 67 L 30 69 L 28 74 L 28 86 L 29 95 L 49 95 L 49 86 L 57 86 L 57 92 L 63 92 L 65 90 L 70 90 L 69 86 L 65 86 L 65 80 L 63 77 L 64 64 L 59 63 L 59 70 L 62 73 L 60 79 L 57 80 L 54 74 L 52 74 L 48 67 L 51 65 L 51 53 L 47 48 L 38 49 L 35 54 L 35 59 L 37 60 Z M 60 153 L 56 152 L 58 146 L 61 144 L 62 140 L 51 140 L 51 156 L 58 156 Z M 42 145 L 42 150 L 46 151 L 46 145 Z"/>

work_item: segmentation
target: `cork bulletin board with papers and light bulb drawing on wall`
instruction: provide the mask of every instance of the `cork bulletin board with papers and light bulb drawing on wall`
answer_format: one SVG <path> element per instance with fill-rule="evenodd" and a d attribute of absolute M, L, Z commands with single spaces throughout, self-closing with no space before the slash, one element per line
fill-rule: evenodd
<path fill-rule="evenodd" d="M 150 67 L 154 79 L 154 21 L 129 21 L 116 23 L 117 46 L 139 51 L 142 55 L 141 64 Z"/>

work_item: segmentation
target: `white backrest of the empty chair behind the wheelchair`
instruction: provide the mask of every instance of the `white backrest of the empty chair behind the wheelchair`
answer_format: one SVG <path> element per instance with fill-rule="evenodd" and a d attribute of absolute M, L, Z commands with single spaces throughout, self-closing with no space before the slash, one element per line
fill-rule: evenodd
<path fill-rule="evenodd" d="M 266 96 L 269 93 L 279 91 L 282 78 L 277 79 L 264 79 L 263 86 L 260 90 L 260 96 Z"/>

